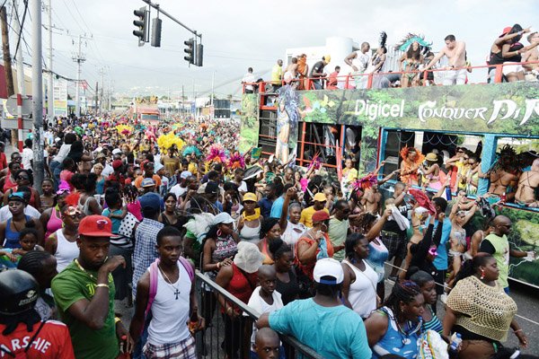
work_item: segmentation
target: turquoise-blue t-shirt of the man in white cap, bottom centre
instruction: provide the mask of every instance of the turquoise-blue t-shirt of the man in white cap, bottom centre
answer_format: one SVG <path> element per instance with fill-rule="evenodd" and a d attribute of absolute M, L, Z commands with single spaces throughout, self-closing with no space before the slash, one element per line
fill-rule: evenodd
<path fill-rule="evenodd" d="M 313 298 L 289 302 L 270 313 L 270 328 L 296 337 L 324 358 L 370 358 L 367 331 L 359 315 L 345 307 L 323 307 Z"/>

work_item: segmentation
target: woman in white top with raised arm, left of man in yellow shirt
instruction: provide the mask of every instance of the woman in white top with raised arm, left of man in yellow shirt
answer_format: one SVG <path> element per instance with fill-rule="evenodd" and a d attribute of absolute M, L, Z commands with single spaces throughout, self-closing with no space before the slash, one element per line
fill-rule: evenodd
<path fill-rule="evenodd" d="M 296 198 L 296 191 L 296 187 L 288 188 L 285 201 L 283 202 L 283 211 L 281 212 L 281 217 L 278 222 L 281 227 L 281 239 L 292 248 L 292 253 L 296 253 L 294 250 L 296 242 L 301 235 L 307 231 L 305 224 L 299 223 L 299 219 L 301 218 L 301 205 L 298 202 L 293 202 L 289 205 L 290 200 Z"/>

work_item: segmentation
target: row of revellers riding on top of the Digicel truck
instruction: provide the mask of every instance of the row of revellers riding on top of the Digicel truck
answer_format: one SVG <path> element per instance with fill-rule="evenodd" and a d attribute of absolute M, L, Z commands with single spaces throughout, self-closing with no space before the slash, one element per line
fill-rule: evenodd
<path fill-rule="evenodd" d="M 521 43 L 523 38 L 528 42 L 527 46 Z M 468 73 L 473 71 L 465 42 L 455 39 L 455 35 L 447 35 L 444 46 L 435 55 L 432 52 L 432 42 L 426 40 L 424 35 L 407 34 L 394 45 L 396 51 L 402 52 L 397 61 L 398 68 L 389 69 L 384 67 L 388 48 L 386 41 L 387 35 L 382 32 L 376 51 L 371 50 L 368 42 L 361 43 L 357 51 L 343 59 L 344 64 L 349 66 L 347 74 L 340 72 L 340 66 L 331 68 L 332 71 L 327 69 L 327 65 L 331 63 L 331 54 L 317 59 L 312 67 L 307 64 L 305 54 L 291 57 L 286 68 L 283 68 L 283 61 L 279 59 L 271 71 L 272 90 L 275 91 L 283 82 L 292 82 L 298 90 L 367 88 L 368 74 L 374 74 L 372 88 L 405 88 L 435 83 L 464 84 L 468 82 Z M 523 29 L 519 24 L 504 28 L 492 43 L 488 54 L 487 82 L 494 82 L 497 65 L 503 65 L 503 82 L 538 81 L 538 45 L 539 32 L 531 28 Z M 436 70 L 436 76 L 433 69 Z M 388 74 L 389 72 L 394 74 Z M 250 67 L 242 80 L 242 83 L 245 83 L 244 91 L 256 91 L 258 85 L 253 83 L 260 82 L 262 80 L 254 77 Z"/>

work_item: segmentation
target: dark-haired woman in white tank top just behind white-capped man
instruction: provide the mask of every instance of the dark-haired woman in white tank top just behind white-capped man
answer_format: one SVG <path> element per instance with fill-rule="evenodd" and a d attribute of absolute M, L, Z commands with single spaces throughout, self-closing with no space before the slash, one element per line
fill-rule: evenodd
<path fill-rule="evenodd" d="M 368 241 L 363 234 L 352 233 L 345 241 L 346 258 L 342 261 L 344 304 L 366 319 L 378 304 L 376 282 L 378 275 L 365 260 Z"/>

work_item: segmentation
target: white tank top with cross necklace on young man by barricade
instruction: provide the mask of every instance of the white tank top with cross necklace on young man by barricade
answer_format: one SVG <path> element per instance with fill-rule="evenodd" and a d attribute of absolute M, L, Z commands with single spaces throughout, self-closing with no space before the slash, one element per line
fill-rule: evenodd
<path fill-rule="evenodd" d="M 178 268 L 180 276 L 173 285 L 166 282 L 161 270 L 157 269 L 157 293 L 152 303 L 152 320 L 148 327 L 148 342 L 154 346 L 179 343 L 190 336 L 186 323 L 190 317 L 191 282 L 180 261 Z"/>

